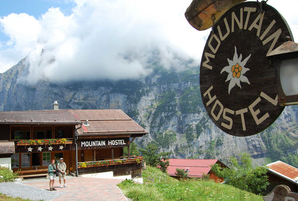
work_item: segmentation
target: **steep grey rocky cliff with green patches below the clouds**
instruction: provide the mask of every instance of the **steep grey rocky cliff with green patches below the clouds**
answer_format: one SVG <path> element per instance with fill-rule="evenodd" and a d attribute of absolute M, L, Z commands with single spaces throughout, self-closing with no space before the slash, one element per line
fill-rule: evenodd
<path fill-rule="evenodd" d="M 217 158 L 223 162 L 240 152 L 263 165 L 276 160 L 298 167 L 298 106 L 287 106 L 262 133 L 234 137 L 209 119 L 199 86 L 199 69 L 183 72 L 155 69 L 139 80 L 117 82 L 22 82 L 25 59 L 0 74 L 0 110 L 120 108 L 150 133 L 137 139 L 139 147 L 153 141 L 174 158 Z M 58 72 L 59 73 L 59 72 Z"/>

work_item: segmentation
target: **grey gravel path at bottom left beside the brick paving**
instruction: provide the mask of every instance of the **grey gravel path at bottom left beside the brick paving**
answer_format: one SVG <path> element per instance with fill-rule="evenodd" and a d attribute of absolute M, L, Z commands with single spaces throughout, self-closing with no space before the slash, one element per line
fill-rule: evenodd
<path fill-rule="evenodd" d="M 39 189 L 32 186 L 22 184 L 20 182 L 3 182 L 0 183 L 0 193 L 10 197 L 19 197 L 22 199 L 30 199 L 32 201 L 51 201 L 56 197 L 59 197 L 64 192 L 48 191 L 45 189 Z"/>

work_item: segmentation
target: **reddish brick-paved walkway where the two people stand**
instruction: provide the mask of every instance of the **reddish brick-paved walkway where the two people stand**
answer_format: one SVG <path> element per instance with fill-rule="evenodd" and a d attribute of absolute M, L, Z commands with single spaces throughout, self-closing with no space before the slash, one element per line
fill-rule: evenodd
<path fill-rule="evenodd" d="M 117 184 L 120 179 L 98 179 L 67 176 L 68 188 L 60 188 L 59 179 L 56 178 L 55 188 L 62 196 L 53 201 L 127 201 Z M 23 180 L 22 184 L 49 191 L 48 179 Z M 63 183 L 63 181 L 62 181 Z"/>

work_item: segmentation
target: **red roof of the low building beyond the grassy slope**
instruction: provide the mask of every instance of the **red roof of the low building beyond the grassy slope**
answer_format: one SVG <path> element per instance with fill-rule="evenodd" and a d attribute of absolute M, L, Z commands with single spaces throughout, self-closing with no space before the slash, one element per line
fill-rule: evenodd
<path fill-rule="evenodd" d="M 226 167 L 217 159 L 169 159 L 169 162 L 167 173 L 170 176 L 176 176 L 176 168 L 188 169 L 188 176 L 201 178 L 203 175 L 207 175 L 211 170 L 211 166 L 216 163 Z"/>

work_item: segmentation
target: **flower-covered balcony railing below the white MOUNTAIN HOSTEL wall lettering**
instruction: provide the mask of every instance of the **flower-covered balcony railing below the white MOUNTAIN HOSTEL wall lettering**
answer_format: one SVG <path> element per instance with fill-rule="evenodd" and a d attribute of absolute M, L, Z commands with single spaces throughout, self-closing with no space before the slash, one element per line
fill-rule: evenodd
<path fill-rule="evenodd" d="M 90 168 L 98 166 L 109 166 L 109 165 L 120 165 L 120 164 L 129 164 L 129 163 L 142 163 L 143 157 L 135 158 L 124 158 L 124 159 L 115 159 L 115 160 L 104 160 L 104 161 L 88 161 L 88 162 L 79 162 L 77 163 L 78 168 Z"/>

